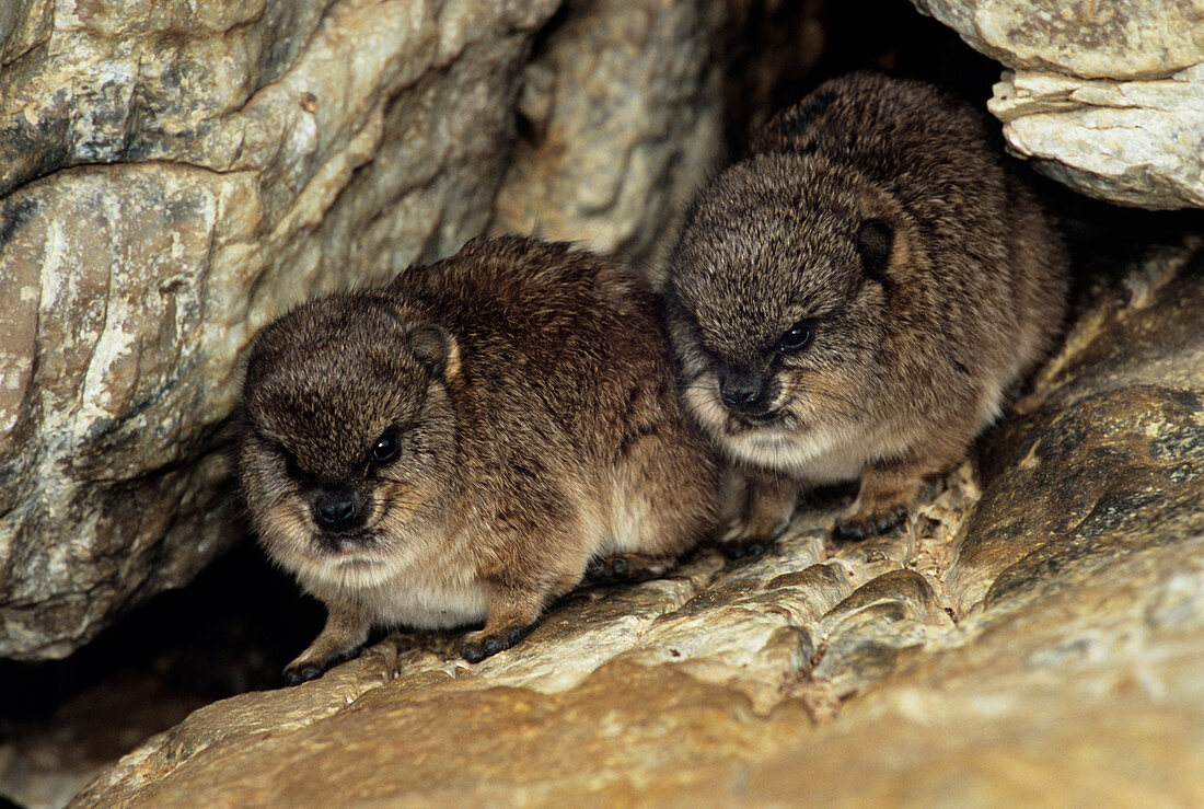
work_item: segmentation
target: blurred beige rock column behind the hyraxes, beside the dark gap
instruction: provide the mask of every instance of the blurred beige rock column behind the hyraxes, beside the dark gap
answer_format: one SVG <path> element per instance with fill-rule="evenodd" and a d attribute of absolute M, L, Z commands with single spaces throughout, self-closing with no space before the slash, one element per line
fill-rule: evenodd
<path fill-rule="evenodd" d="M 588 0 L 527 67 L 497 232 L 653 264 L 720 157 L 725 4 Z"/>

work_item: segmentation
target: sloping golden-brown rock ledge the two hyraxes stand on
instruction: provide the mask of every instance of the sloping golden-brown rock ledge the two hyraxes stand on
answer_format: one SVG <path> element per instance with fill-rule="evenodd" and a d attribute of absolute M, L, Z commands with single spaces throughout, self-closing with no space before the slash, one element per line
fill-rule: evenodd
<path fill-rule="evenodd" d="M 468 666 L 386 642 L 211 704 L 78 805 L 1204 801 L 1204 253 L 1082 307 L 909 525 L 568 598 Z"/>

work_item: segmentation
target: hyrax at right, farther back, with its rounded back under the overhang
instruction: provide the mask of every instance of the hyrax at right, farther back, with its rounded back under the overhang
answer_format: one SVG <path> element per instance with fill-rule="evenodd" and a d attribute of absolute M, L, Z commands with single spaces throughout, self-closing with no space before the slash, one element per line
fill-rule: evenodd
<path fill-rule="evenodd" d="M 702 190 L 666 293 L 687 407 L 749 472 L 728 541 L 759 549 L 799 485 L 860 478 L 837 538 L 898 524 L 1050 348 L 1067 258 L 978 113 L 852 75 Z"/>

